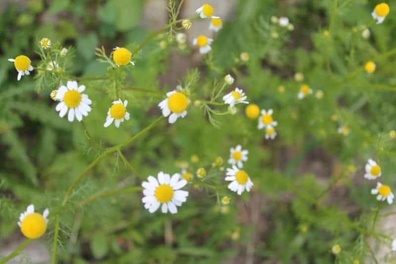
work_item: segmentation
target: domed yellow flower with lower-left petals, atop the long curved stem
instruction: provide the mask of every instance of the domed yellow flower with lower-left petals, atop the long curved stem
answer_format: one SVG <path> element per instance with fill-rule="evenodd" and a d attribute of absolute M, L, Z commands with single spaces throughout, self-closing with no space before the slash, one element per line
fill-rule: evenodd
<path fill-rule="evenodd" d="M 170 124 L 176 122 L 177 118 L 184 118 L 187 115 L 186 109 L 190 104 L 190 100 L 181 93 L 181 90 L 182 88 L 178 86 L 176 90 L 166 93 L 167 98 L 158 104 L 163 116 L 167 117 L 169 115 Z"/>

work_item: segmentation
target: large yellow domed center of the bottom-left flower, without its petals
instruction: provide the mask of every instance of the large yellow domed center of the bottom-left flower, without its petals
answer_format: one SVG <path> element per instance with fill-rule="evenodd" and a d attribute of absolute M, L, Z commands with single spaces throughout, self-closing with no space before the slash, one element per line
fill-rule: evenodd
<path fill-rule="evenodd" d="M 44 235 L 47 230 L 47 223 L 43 215 L 34 212 L 23 219 L 21 223 L 22 234 L 30 239 L 36 239 Z"/>

